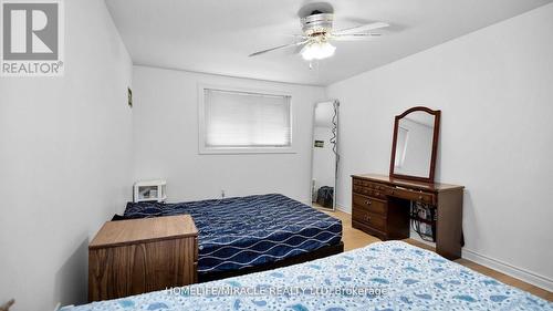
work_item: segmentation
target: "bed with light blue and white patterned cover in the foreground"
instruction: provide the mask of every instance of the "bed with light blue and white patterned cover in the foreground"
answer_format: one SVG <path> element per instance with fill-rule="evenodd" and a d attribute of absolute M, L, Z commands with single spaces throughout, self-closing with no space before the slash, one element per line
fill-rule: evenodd
<path fill-rule="evenodd" d="M 219 294 L 223 291 L 230 294 Z M 275 270 L 62 310 L 165 309 L 553 310 L 553 303 L 435 252 L 387 241 Z"/>

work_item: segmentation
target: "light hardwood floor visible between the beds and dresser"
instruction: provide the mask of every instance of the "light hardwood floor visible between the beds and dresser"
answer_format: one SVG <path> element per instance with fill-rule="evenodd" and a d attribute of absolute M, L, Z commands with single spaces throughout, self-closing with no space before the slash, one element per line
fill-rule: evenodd
<path fill-rule="evenodd" d="M 352 216 L 346 214 L 346 212 L 338 211 L 338 210 L 337 211 L 322 210 L 322 211 L 324 211 L 328 215 L 332 215 L 333 217 L 342 220 L 342 226 L 343 226 L 342 240 L 344 241 L 344 250 L 352 250 L 352 249 L 361 248 L 361 247 L 364 247 L 364 246 L 367 246 L 369 243 L 373 243 L 373 242 L 380 240 L 380 239 L 375 238 L 373 236 L 369 236 L 361 230 L 354 229 L 352 227 Z M 414 239 L 406 239 L 404 241 L 406 241 L 410 245 L 420 247 L 420 248 L 425 248 L 425 249 L 435 251 L 435 249 L 432 247 L 430 247 L 426 243 L 416 241 Z M 510 284 L 512 287 L 528 291 L 532 294 L 535 294 L 535 296 L 541 297 L 543 299 L 546 299 L 549 301 L 553 301 L 553 292 L 546 291 L 546 290 L 541 289 L 539 287 L 534 287 L 534 286 L 529 284 L 526 282 L 523 282 L 519 279 L 507 276 L 504 273 L 501 273 L 501 272 L 495 271 L 493 269 L 490 269 L 488 267 L 480 266 L 480 265 L 472 262 L 470 260 L 467 260 L 467 259 L 461 258 L 461 259 L 455 260 L 455 262 L 457 262 L 461 266 L 465 266 L 467 268 L 470 268 L 474 271 L 478 271 L 482 274 L 494 278 L 494 279 L 497 279 L 505 284 Z"/>

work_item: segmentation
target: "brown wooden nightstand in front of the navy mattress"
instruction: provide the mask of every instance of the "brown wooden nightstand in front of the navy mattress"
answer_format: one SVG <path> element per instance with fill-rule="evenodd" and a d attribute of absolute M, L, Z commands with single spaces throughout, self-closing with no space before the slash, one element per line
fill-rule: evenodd
<path fill-rule="evenodd" d="M 190 215 L 108 221 L 88 246 L 88 301 L 195 283 L 197 267 Z"/>

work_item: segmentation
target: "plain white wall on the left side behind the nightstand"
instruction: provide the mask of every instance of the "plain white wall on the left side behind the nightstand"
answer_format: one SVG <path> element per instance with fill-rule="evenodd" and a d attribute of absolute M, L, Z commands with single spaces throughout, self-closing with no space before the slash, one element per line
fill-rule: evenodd
<path fill-rule="evenodd" d="M 101 0 L 64 1 L 65 76 L 0 77 L 0 303 L 86 301 L 87 245 L 131 199 L 132 64 Z"/>

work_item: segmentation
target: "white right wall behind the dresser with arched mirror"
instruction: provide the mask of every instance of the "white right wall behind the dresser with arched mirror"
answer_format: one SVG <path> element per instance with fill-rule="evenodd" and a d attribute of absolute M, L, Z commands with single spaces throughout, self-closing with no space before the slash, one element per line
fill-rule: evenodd
<path fill-rule="evenodd" d="M 394 115 L 442 111 L 437 180 L 465 185 L 463 255 L 553 290 L 553 4 L 330 85 L 340 190 L 388 173 Z"/>

